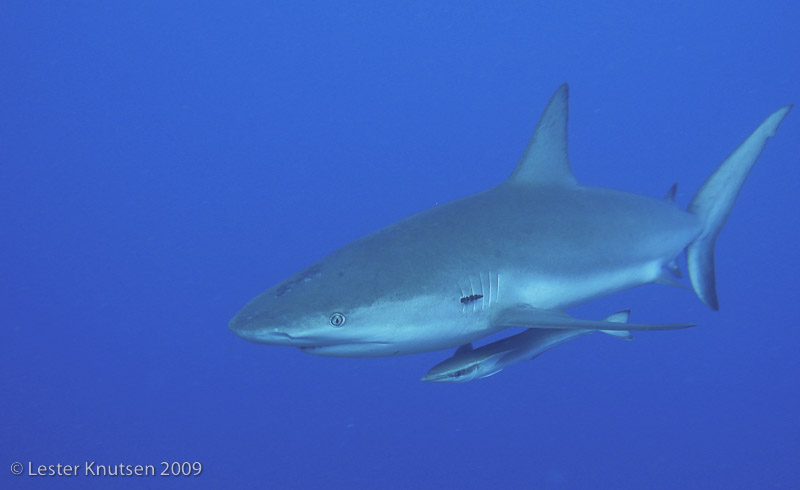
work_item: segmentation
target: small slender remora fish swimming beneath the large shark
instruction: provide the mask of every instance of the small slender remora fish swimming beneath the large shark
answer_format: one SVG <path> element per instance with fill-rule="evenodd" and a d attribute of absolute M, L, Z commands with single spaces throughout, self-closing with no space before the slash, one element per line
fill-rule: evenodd
<path fill-rule="evenodd" d="M 604 321 L 625 323 L 630 314 L 630 310 L 619 311 L 606 317 Z M 473 348 L 471 343 L 464 344 L 456 350 L 453 357 L 433 366 L 422 377 L 422 381 L 466 383 L 475 379 L 488 378 L 512 364 L 534 359 L 557 345 L 593 331 L 576 328 L 530 328 L 477 349 Z M 633 340 L 633 336 L 629 332 L 618 330 L 603 332 L 626 340 Z"/>

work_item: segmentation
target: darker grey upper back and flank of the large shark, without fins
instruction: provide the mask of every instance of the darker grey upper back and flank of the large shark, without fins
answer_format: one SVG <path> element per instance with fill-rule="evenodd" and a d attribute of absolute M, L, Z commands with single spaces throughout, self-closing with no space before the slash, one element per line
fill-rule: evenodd
<path fill-rule="evenodd" d="M 327 311 L 338 295 L 329 281 L 313 280 L 324 274 L 340 287 L 363 290 L 365 301 L 443 288 L 458 300 L 469 276 L 591 274 L 677 255 L 698 231 L 692 215 L 661 200 L 596 187 L 506 183 L 356 240 L 265 294 L 319 285 L 329 290 L 314 291 L 316 306 Z"/>

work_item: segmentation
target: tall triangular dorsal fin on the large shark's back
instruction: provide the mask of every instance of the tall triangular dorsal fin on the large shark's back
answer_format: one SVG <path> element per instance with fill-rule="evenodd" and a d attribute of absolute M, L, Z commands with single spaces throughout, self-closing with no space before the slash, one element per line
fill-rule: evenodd
<path fill-rule="evenodd" d="M 567 154 L 569 86 L 563 84 L 550 98 L 525 153 L 509 182 L 529 185 L 575 185 Z"/>

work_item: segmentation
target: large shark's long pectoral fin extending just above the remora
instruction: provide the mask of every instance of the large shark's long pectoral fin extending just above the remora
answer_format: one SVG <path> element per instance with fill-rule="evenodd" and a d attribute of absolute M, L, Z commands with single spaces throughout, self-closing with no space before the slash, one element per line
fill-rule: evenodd
<path fill-rule="evenodd" d="M 608 320 L 584 320 L 561 311 L 541 310 L 525 304 L 500 311 L 492 323 L 498 327 L 577 328 L 607 331 L 675 330 L 694 326 L 692 323 L 620 323 Z"/>

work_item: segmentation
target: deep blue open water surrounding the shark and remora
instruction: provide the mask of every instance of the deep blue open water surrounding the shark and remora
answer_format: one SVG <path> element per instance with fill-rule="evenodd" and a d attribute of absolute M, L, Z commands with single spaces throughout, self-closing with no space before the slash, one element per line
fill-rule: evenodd
<path fill-rule="evenodd" d="M 501 182 L 571 86 L 580 182 L 678 201 L 800 102 L 800 4 L 0 5 L 1 488 L 800 488 L 800 113 L 717 246 L 722 309 L 464 385 L 450 351 L 336 359 L 234 336 L 253 296 Z M 614 233 L 614 230 L 609 230 Z M 14 462 L 200 462 L 196 477 Z"/>

